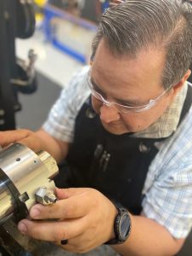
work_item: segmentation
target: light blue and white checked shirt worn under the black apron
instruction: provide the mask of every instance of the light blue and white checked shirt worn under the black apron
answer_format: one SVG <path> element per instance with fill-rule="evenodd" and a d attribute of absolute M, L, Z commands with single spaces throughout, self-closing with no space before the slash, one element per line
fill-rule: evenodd
<path fill-rule="evenodd" d="M 88 68 L 71 79 L 43 125 L 45 131 L 61 141 L 73 141 L 76 115 L 90 95 Z M 192 226 L 192 108 L 176 131 L 186 91 L 185 86 L 154 125 L 134 135 L 167 137 L 175 131 L 171 138 L 156 143 L 160 151 L 150 164 L 142 202 L 144 215 L 162 224 L 175 238 L 186 237 Z"/>

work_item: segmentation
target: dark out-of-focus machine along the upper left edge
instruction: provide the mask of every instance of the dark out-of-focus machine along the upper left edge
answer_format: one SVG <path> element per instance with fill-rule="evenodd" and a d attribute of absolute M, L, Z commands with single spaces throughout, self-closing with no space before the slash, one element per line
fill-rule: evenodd
<path fill-rule="evenodd" d="M 15 55 L 15 38 L 30 38 L 35 24 L 32 1 L 0 1 L 0 131 L 15 128 L 14 113 L 21 108 L 18 91 L 32 93 L 37 88 L 34 52 L 26 62 Z"/>

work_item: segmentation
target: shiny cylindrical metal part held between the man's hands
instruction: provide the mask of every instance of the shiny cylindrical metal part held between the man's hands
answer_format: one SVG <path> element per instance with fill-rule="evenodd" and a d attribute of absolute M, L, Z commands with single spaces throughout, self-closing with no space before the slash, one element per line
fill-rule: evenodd
<path fill-rule="evenodd" d="M 44 186 L 54 189 L 52 178 L 58 172 L 56 161 L 47 152 L 35 154 L 30 148 L 14 143 L 0 152 L 0 168 L 10 183 L 19 191 L 19 199 L 25 202 L 27 209 L 36 203 L 35 193 Z M 0 177 L 0 223 L 14 212 L 15 198 L 7 181 Z"/>

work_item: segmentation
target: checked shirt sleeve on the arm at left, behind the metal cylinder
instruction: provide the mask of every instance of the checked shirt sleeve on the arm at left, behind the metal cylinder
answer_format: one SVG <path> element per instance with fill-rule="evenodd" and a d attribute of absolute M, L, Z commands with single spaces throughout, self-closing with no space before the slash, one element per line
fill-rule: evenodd
<path fill-rule="evenodd" d="M 67 143 L 73 141 L 76 115 L 90 94 L 87 84 L 88 68 L 83 67 L 61 91 L 59 99 L 48 114 L 48 119 L 42 125 L 48 134 Z"/>

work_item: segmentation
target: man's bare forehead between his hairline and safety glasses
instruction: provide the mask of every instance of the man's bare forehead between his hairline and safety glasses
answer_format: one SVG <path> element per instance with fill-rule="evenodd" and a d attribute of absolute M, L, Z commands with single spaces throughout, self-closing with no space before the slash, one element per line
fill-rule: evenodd
<path fill-rule="evenodd" d="M 101 88 L 105 84 L 110 84 L 110 88 L 122 85 L 136 94 L 146 90 L 150 95 L 154 88 L 157 92 L 163 88 L 164 64 L 165 54 L 159 49 L 141 50 L 135 58 L 127 55 L 118 57 L 110 53 L 103 41 L 93 60 L 92 78 Z"/>

